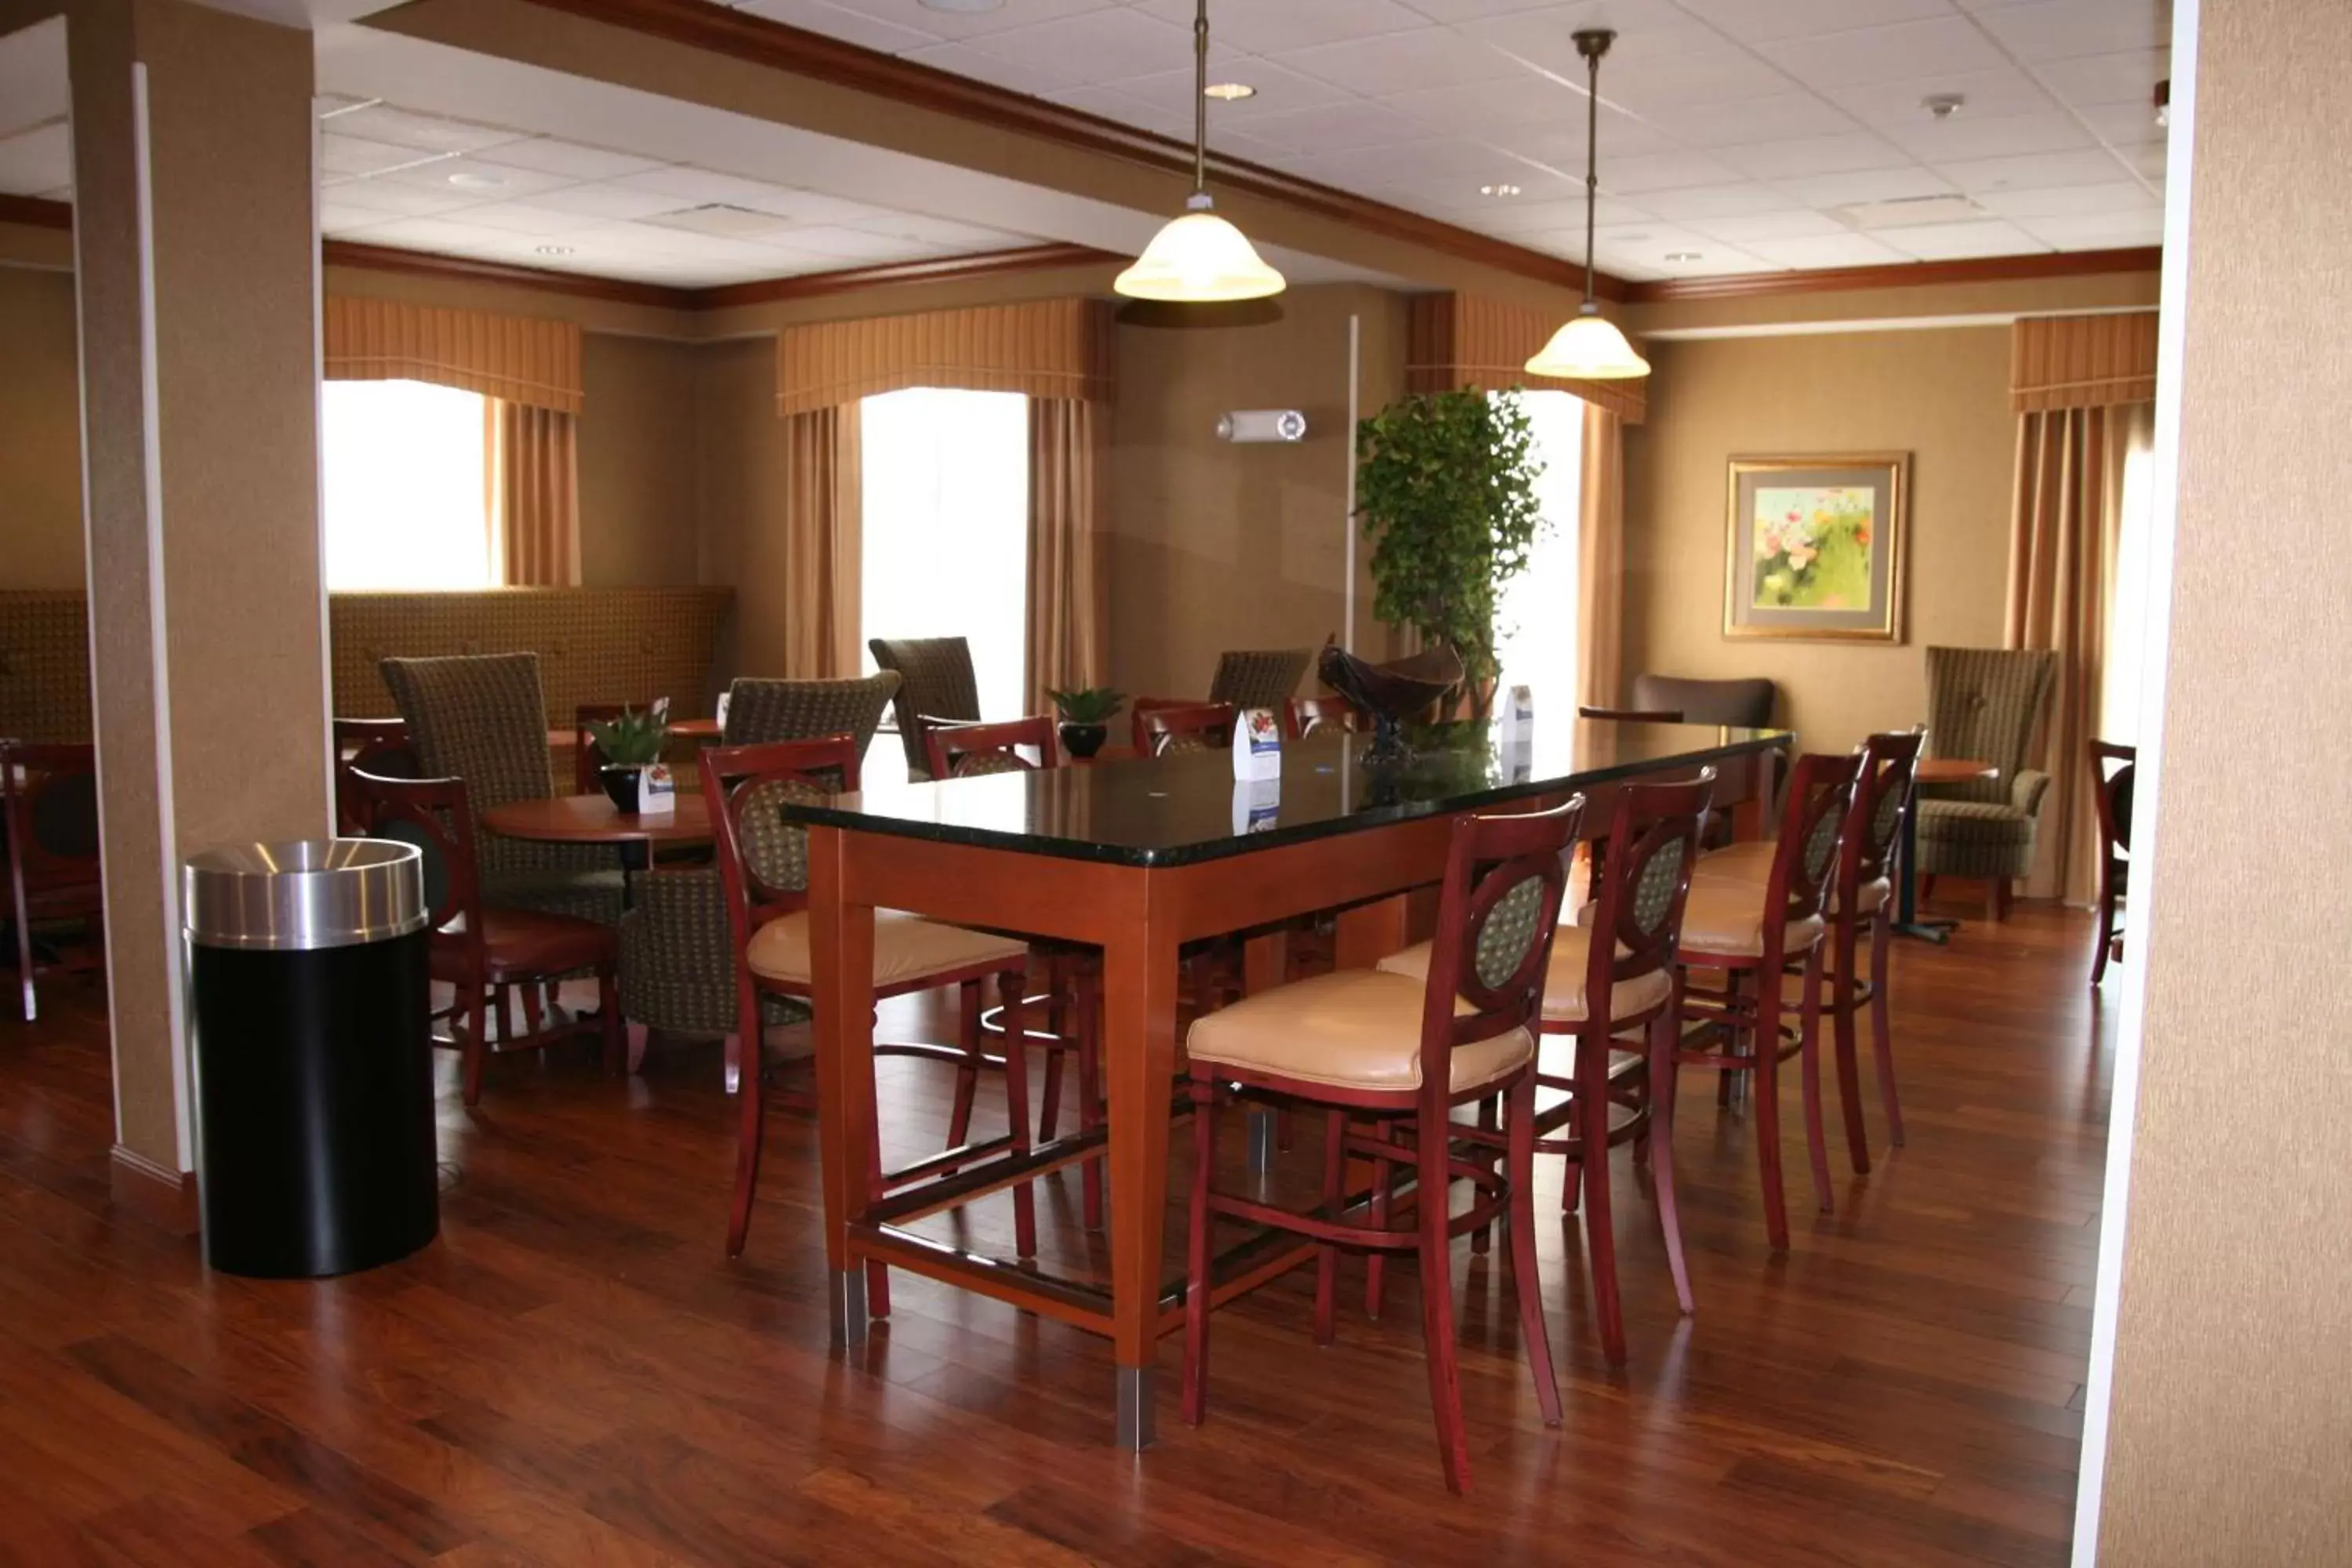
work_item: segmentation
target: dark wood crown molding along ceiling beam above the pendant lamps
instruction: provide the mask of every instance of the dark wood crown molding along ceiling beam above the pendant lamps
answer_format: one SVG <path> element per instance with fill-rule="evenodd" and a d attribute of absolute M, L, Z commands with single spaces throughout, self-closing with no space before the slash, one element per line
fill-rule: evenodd
<path fill-rule="evenodd" d="M 1143 132 L 1117 120 L 1105 120 L 1103 115 L 1033 99 L 1009 87 L 978 82 L 953 71 L 922 66 L 783 21 L 769 21 L 750 12 L 708 5 L 708 0 L 529 0 L 529 5 L 569 12 L 652 38 L 668 38 L 670 42 L 713 54 L 748 59 L 774 71 L 854 87 L 910 108 L 995 125 L 1087 153 L 1103 153 L 1167 174 L 1192 174 L 1192 143 L 1188 141 Z M 1322 186 L 1296 174 L 1284 174 L 1282 169 L 1225 158 L 1216 148 L 1209 150 L 1209 179 L 1230 190 L 1244 190 L 1390 240 L 1423 244 L 1461 261 L 1583 292 L 1583 268 L 1559 256 L 1545 256 L 1510 240 L 1496 240 L 1494 235 Z M 1602 299 L 1623 299 L 1623 289 L 1625 282 L 1606 273 L 1595 280 L 1595 292 Z"/>

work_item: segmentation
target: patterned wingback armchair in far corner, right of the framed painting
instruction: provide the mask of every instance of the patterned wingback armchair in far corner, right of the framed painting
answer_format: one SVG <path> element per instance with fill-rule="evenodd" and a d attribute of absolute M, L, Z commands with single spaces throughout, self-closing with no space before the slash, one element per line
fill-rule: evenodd
<path fill-rule="evenodd" d="M 2034 867 L 2034 825 L 2051 776 L 2025 766 L 2058 656 L 2042 649 L 1929 649 L 1926 743 L 1933 757 L 1990 762 L 1992 778 L 1919 790 L 1919 872 L 1983 877 L 1992 919 Z"/>

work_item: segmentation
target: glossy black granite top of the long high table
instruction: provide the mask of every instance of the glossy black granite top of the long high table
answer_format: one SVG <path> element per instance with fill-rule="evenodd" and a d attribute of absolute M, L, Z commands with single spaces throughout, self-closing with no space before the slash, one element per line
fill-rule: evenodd
<path fill-rule="evenodd" d="M 1112 759 L 938 783 L 870 780 L 786 820 L 941 844 L 1014 849 L 1112 865 L 1190 865 L 1416 816 L 1503 806 L 1637 773 L 1785 750 L 1788 731 L 1715 724 L 1536 722 L 1534 738 L 1494 731 L 1421 750 L 1402 769 L 1367 769 L 1367 736 L 1322 733 L 1282 748 L 1277 780 L 1232 776 L 1232 752 Z"/>

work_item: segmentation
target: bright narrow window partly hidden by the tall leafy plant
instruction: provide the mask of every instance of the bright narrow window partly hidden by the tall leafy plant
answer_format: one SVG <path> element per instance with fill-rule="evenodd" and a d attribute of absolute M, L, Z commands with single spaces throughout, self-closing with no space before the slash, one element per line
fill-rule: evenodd
<path fill-rule="evenodd" d="M 1536 712 L 1576 717 L 1576 562 L 1583 534 L 1585 402 L 1573 393 L 1519 393 L 1534 428 L 1543 477 L 1536 501 L 1543 529 L 1526 571 L 1503 583 L 1496 604 L 1496 656 L 1501 691 L 1526 686 Z"/>

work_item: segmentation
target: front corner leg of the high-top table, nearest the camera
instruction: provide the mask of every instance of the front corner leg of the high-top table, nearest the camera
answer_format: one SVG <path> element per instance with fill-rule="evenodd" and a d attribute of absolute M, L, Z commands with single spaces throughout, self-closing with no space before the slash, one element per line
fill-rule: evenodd
<path fill-rule="evenodd" d="M 1110 1319 L 1120 1446 L 1152 1441 L 1169 1084 L 1176 1074 L 1176 943 L 1143 910 L 1103 943 L 1103 1067 L 1110 1077 Z"/>

